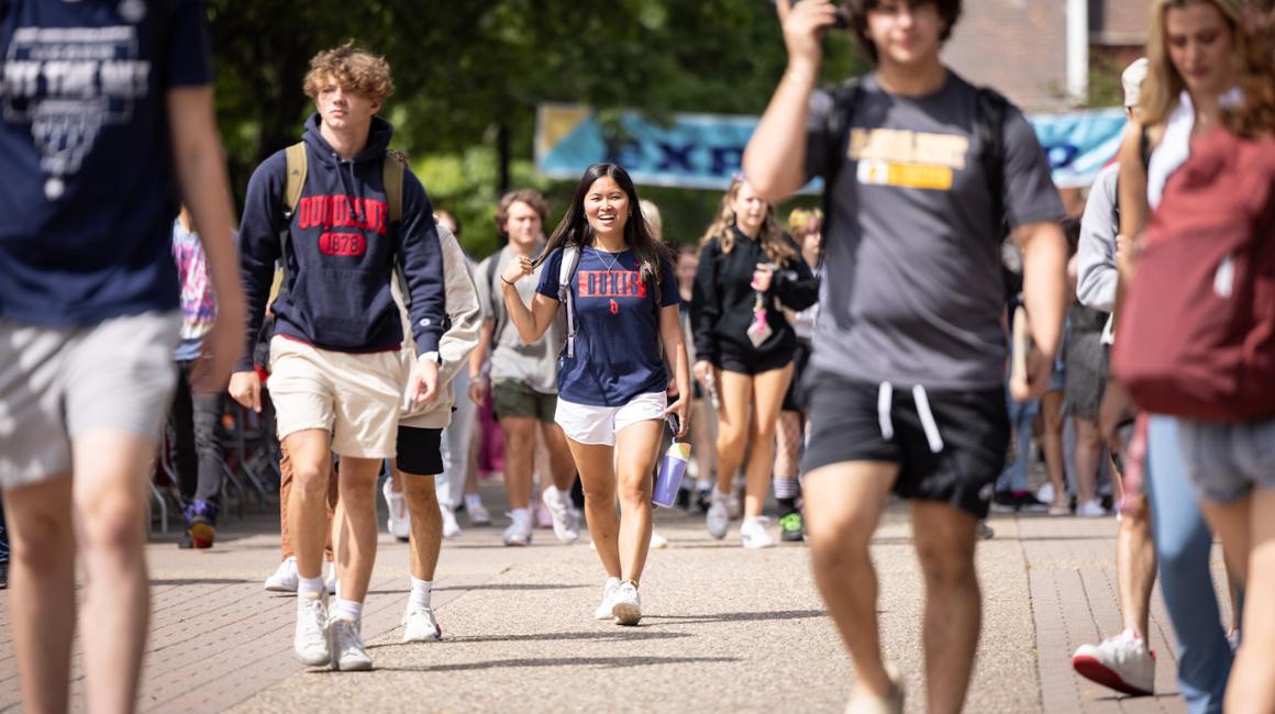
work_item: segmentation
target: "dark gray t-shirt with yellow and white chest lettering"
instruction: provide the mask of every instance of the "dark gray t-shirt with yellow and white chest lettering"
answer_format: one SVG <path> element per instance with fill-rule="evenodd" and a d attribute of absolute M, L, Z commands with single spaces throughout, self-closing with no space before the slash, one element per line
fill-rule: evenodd
<path fill-rule="evenodd" d="M 806 176 L 829 161 L 831 96 L 810 102 Z M 980 162 L 978 91 L 949 71 L 926 97 L 863 79 L 825 235 L 816 368 L 847 379 L 937 389 L 1000 386 L 1001 226 Z M 1065 215 L 1044 150 L 1023 113 L 1005 120 L 1011 228 Z"/>

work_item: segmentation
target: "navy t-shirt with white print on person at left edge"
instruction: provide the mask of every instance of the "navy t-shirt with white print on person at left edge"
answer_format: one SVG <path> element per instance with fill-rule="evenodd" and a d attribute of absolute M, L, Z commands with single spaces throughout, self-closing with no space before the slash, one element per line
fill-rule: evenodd
<path fill-rule="evenodd" d="M 166 93 L 212 82 L 204 4 L 13 0 L 0 65 L 0 317 L 176 310 Z"/>

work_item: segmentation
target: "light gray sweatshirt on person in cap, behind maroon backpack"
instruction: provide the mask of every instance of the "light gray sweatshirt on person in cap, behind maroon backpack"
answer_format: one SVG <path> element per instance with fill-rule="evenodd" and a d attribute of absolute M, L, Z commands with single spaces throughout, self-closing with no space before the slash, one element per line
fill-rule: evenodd
<path fill-rule="evenodd" d="M 1119 166 L 1098 172 L 1080 219 L 1080 246 L 1076 249 L 1076 297 L 1085 307 L 1111 312 L 1116 307 L 1116 178 Z"/>

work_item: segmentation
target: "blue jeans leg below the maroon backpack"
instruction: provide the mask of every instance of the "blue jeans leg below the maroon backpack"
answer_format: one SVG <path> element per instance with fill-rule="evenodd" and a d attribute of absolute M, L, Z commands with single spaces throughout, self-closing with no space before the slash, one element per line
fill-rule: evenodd
<path fill-rule="evenodd" d="M 1192 714 L 1220 714 L 1232 653 L 1209 571 L 1213 533 L 1187 478 L 1177 418 L 1151 417 L 1146 472 L 1160 589 L 1178 635 L 1178 687 Z"/>

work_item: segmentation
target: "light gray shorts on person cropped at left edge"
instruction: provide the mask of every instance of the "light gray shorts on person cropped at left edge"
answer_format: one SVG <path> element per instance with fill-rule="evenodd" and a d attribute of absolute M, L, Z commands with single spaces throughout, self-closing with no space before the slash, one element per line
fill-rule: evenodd
<path fill-rule="evenodd" d="M 71 441 L 84 433 L 158 441 L 180 329 L 176 311 L 82 328 L 0 320 L 0 488 L 69 473 Z"/>

